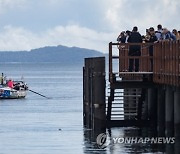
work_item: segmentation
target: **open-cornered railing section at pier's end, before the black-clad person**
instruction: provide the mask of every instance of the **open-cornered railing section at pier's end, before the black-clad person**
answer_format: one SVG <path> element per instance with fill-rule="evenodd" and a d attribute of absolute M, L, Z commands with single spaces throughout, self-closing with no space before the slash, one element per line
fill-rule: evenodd
<path fill-rule="evenodd" d="M 133 46 L 138 46 L 140 51 L 139 55 L 133 55 L 130 53 L 130 48 Z M 151 48 L 151 49 L 150 49 Z M 151 75 L 152 72 L 152 59 L 153 56 L 150 55 L 150 50 L 153 49 L 152 43 L 109 43 L 109 81 L 112 83 L 114 77 L 118 75 L 119 77 L 134 77 L 140 75 Z M 129 70 L 129 63 L 133 62 L 132 69 Z M 139 67 L 138 71 L 135 72 L 135 63 L 138 61 Z M 117 68 L 118 67 L 118 68 Z"/>

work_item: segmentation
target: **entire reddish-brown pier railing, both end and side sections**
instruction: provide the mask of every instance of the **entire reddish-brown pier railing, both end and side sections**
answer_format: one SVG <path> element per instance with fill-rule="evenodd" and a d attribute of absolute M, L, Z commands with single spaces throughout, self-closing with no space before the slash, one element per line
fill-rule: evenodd
<path fill-rule="evenodd" d="M 129 54 L 133 45 L 140 47 L 140 55 Z M 153 56 L 151 52 L 153 51 Z M 130 59 L 139 61 L 138 71 L 130 71 Z M 158 84 L 180 86 L 180 41 L 162 41 L 159 43 L 109 43 L 109 81 L 137 75 L 151 76 Z M 134 76 L 133 76 L 134 75 Z"/>

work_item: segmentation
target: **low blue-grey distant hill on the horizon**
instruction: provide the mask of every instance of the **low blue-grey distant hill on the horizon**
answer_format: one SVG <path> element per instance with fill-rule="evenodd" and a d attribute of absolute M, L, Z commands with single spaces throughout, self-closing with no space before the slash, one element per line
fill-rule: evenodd
<path fill-rule="evenodd" d="M 1 51 L 0 62 L 83 63 L 84 58 L 104 56 L 103 53 L 78 47 L 48 46 L 31 51 Z"/>

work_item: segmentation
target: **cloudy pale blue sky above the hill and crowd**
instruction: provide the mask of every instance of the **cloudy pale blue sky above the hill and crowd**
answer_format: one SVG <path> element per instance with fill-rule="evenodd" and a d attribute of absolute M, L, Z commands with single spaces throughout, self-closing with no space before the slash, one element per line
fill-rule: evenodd
<path fill-rule="evenodd" d="M 77 46 L 108 52 L 120 31 L 180 30 L 180 0 L 0 0 L 0 50 Z"/>

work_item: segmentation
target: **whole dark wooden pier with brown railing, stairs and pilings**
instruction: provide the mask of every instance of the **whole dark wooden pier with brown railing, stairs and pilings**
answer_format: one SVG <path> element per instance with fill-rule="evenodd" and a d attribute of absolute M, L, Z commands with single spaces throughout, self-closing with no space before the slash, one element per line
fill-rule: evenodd
<path fill-rule="evenodd" d="M 128 54 L 132 46 L 140 47 L 139 56 Z M 180 41 L 110 42 L 107 76 L 105 63 L 85 59 L 84 125 L 156 126 L 160 136 L 180 138 Z"/>

